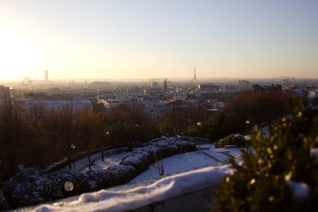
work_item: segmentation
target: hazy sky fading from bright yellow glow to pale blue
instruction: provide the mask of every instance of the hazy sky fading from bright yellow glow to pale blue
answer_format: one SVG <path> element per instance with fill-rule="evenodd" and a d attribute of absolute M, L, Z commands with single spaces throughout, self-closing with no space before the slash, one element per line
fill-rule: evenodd
<path fill-rule="evenodd" d="M 0 0 L 0 79 L 318 77 L 318 0 Z"/>

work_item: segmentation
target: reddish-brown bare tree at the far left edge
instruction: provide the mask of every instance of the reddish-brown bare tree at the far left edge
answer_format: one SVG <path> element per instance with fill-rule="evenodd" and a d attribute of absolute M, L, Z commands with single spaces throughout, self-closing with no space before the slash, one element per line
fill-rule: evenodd
<path fill-rule="evenodd" d="M 6 99 L 0 105 L 0 161 L 1 175 L 10 177 L 17 165 L 30 164 L 32 144 L 37 139 L 36 128 L 17 100 Z"/>

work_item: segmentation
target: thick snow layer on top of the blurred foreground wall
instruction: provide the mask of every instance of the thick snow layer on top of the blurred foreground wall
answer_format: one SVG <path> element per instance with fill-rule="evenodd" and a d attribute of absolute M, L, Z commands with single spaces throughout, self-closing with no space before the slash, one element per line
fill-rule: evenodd
<path fill-rule="evenodd" d="M 216 185 L 224 179 L 224 175 L 233 172 L 230 165 L 207 167 L 182 174 L 165 177 L 148 186 L 138 186 L 128 190 L 100 190 L 86 193 L 71 202 L 59 202 L 53 205 L 45 204 L 31 211 L 129 211 L 187 194 L 196 190 Z M 61 207 L 63 206 L 63 207 Z"/>

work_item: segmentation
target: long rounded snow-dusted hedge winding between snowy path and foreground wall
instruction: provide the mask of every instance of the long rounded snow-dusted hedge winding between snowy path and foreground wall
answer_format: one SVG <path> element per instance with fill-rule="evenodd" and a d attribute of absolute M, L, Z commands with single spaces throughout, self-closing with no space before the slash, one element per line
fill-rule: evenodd
<path fill-rule="evenodd" d="M 10 207 L 16 208 L 68 197 L 69 193 L 64 189 L 67 181 L 74 185 L 71 191 L 72 196 L 125 184 L 155 162 L 154 154 L 165 158 L 179 152 L 196 151 L 196 143 L 193 139 L 188 140 L 164 141 L 135 148 L 122 159 L 120 165 L 110 166 L 107 169 L 90 169 L 86 173 L 68 170 L 47 174 L 48 169 L 44 171 L 25 168 L 22 170 L 22 178 L 18 173 L 5 182 L 3 194 L 10 203 Z M 50 171 L 61 167 L 65 162 L 67 160 L 53 164 L 50 166 L 53 167 Z M 6 207 L 6 202 L 0 199 L 0 207 L 2 205 Z"/>

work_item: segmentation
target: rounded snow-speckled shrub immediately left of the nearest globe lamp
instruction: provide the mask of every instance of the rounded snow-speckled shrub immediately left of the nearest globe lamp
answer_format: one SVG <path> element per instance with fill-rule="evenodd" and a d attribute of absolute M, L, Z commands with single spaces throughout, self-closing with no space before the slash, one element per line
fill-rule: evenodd
<path fill-rule="evenodd" d="M 48 178 L 41 178 L 25 189 L 20 200 L 20 207 L 61 198 L 63 198 L 63 193 L 58 185 Z"/>

